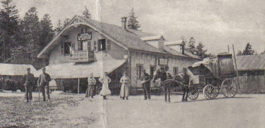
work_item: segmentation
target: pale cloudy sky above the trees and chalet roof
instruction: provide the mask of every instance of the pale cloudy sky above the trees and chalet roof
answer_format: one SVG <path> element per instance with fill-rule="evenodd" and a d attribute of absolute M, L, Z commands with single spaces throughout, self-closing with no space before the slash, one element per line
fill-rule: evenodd
<path fill-rule="evenodd" d="M 81 15 L 85 6 L 92 19 L 121 26 L 132 8 L 143 32 L 162 34 L 167 41 L 191 36 L 208 53 L 244 50 L 246 43 L 265 50 L 264 0 L 13 0 L 20 17 L 32 6 L 39 17 L 50 14 L 52 24 Z"/>

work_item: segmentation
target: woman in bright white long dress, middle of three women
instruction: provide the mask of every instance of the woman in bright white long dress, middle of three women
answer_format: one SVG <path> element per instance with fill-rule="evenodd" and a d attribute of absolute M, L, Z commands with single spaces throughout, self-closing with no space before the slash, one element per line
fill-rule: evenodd
<path fill-rule="evenodd" d="M 99 82 L 102 83 L 102 89 L 99 94 L 100 96 L 103 96 L 104 100 L 106 100 L 106 96 L 111 94 L 110 89 L 108 88 L 108 83 L 111 82 L 111 79 L 108 77 L 107 72 L 105 72 L 104 76 L 99 78 Z"/>

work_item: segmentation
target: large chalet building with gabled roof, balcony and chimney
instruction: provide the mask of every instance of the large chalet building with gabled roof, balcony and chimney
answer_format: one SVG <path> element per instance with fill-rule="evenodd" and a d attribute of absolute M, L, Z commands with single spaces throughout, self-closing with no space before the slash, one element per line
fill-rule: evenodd
<path fill-rule="evenodd" d="M 199 61 L 164 45 L 161 35 L 133 30 L 121 18 L 121 27 L 75 16 L 38 54 L 46 58 L 47 72 L 63 90 L 84 92 L 89 73 L 99 78 L 108 72 L 110 89 L 119 90 L 119 78 L 127 72 L 133 87 L 141 87 L 143 70 L 151 76 L 159 67 L 171 74 Z M 35 75 L 39 75 L 38 70 Z M 115 93 L 115 91 L 113 91 Z"/>

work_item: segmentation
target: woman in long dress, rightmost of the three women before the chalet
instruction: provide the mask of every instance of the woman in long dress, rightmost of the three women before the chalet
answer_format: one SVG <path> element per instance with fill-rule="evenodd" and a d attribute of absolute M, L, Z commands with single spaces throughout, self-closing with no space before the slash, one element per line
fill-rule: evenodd
<path fill-rule="evenodd" d="M 122 76 L 121 80 L 119 81 L 119 83 L 121 83 L 121 91 L 119 92 L 119 97 L 122 99 L 126 98 L 128 100 L 130 78 L 126 75 L 126 72 L 124 72 L 123 75 L 124 76 Z"/>

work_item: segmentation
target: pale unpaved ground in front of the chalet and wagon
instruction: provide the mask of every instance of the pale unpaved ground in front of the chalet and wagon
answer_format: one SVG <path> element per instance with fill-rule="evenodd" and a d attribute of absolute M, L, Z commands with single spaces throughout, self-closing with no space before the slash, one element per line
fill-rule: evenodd
<path fill-rule="evenodd" d="M 34 94 L 34 97 L 37 100 L 37 94 Z M 22 99 L 23 94 L 0 93 L 0 98 L 2 107 L 4 105 L 2 98 Z M 164 103 L 164 96 L 151 98 L 152 100 L 143 100 L 143 96 L 130 96 L 129 100 L 121 100 L 118 96 L 108 96 L 108 100 L 102 100 L 100 96 L 87 99 L 84 98 L 84 94 L 52 94 L 52 102 L 49 104 L 49 109 L 46 109 L 48 112 L 35 114 L 33 111 L 32 117 L 28 117 L 31 120 L 28 121 L 30 123 L 25 126 L 265 127 L 264 94 L 237 95 L 236 98 L 223 98 L 220 95 L 215 100 L 204 100 L 204 96 L 200 94 L 197 100 L 186 103 L 179 102 L 181 96 L 173 95 L 170 104 Z M 15 101 L 20 105 L 27 105 L 22 100 Z M 48 103 L 36 103 L 48 105 Z M 35 109 L 42 107 L 32 104 Z M 19 107 L 15 108 L 19 109 Z M 6 111 L 9 110 L 6 109 Z M 17 113 L 19 112 L 21 111 Z M 17 121 L 12 123 L 14 122 Z"/>

